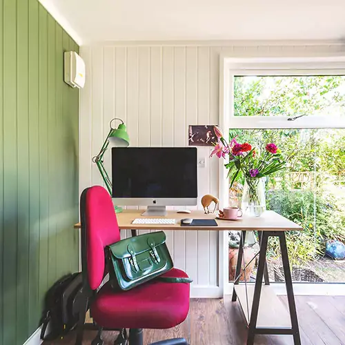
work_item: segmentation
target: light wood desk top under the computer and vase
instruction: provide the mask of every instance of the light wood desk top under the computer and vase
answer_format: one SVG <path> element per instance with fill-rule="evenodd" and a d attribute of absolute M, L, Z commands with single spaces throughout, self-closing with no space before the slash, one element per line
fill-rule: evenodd
<path fill-rule="evenodd" d="M 226 230 L 259 230 L 259 231 L 286 231 L 286 230 L 302 230 L 302 227 L 278 215 L 274 211 L 266 211 L 261 217 L 243 217 L 231 221 L 216 219 L 218 226 L 180 226 L 179 220 L 184 218 L 194 219 L 215 219 L 216 215 L 205 215 L 204 211 L 195 210 L 192 213 L 177 213 L 176 211 L 168 211 L 166 218 L 177 219 L 177 223 L 172 224 L 132 224 L 135 218 L 140 218 L 141 213 L 145 210 L 124 210 L 117 213 L 117 222 L 121 230 L 136 229 L 136 230 L 213 230 L 213 231 L 226 231 Z M 150 217 L 159 218 L 159 217 Z M 75 228 L 80 228 L 80 223 L 75 224 Z"/>

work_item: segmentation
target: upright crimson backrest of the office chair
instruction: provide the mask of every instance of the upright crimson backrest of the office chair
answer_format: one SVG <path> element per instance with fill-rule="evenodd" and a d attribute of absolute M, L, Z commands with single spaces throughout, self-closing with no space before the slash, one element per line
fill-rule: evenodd
<path fill-rule="evenodd" d="M 101 186 L 86 188 L 80 197 L 81 259 L 84 283 L 99 287 L 105 269 L 104 248 L 120 240 L 112 199 Z"/>

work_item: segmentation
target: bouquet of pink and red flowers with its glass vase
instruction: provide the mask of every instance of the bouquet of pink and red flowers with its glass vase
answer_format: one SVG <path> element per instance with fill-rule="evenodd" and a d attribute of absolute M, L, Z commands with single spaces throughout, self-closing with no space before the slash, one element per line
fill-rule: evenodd
<path fill-rule="evenodd" d="M 263 152 L 253 148 L 249 143 L 240 144 L 236 138 L 230 141 L 230 144 L 224 139 L 221 130 L 215 126 L 215 134 L 217 135 L 217 143 L 211 152 L 211 157 L 216 155 L 218 158 L 228 157 L 229 161 L 225 164 L 228 169 L 228 177 L 230 178 L 230 188 L 241 175 L 246 180 L 244 186 L 243 201 L 247 204 L 250 214 L 259 216 L 266 209 L 264 204 L 264 193 L 262 177 L 272 175 L 278 170 L 282 170 L 286 161 L 279 153 L 277 146 L 273 143 L 267 144 Z"/>

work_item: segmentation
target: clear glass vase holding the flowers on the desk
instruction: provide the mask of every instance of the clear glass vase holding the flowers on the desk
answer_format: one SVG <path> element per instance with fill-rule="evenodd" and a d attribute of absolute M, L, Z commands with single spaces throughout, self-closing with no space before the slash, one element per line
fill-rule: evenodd
<path fill-rule="evenodd" d="M 260 217 L 266 210 L 265 178 L 248 178 L 244 184 L 242 210 L 247 215 Z"/>

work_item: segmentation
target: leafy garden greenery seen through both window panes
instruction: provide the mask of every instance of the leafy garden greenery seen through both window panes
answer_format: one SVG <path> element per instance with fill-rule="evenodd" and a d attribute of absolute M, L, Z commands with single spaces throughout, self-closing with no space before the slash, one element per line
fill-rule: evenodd
<path fill-rule="evenodd" d="M 345 77 L 235 77 L 234 105 L 235 116 L 345 116 Z M 345 282 L 345 263 L 324 257 L 326 241 L 345 242 L 345 129 L 230 130 L 229 137 L 258 150 L 278 146 L 287 168 L 266 181 L 266 207 L 304 228 L 287 234 L 290 260 Z M 273 239 L 269 253 L 270 266 L 279 264 Z"/>

